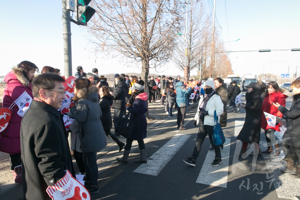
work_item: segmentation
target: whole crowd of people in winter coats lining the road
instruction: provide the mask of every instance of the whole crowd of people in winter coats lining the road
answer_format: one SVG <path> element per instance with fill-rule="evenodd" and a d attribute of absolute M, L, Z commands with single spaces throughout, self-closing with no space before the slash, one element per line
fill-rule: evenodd
<path fill-rule="evenodd" d="M 148 103 L 154 102 L 164 106 L 164 111 L 170 118 L 175 117 L 173 109 L 177 109 L 177 128 L 186 130 L 186 108 L 199 101 L 194 117 L 194 125 L 199 125 L 196 144 L 193 154 L 184 159 L 184 163 L 196 165 L 207 135 L 211 143 L 209 149 L 215 152 L 211 165 L 218 166 L 222 163 L 220 149 L 223 145 L 214 145 L 212 139 L 214 115 L 218 117 L 221 127 L 226 127 L 227 108 L 232 107 L 233 113 L 238 113 L 240 109 L 246 110 L 244 126 L 237 136 L 242 147 L 236 156 L 244 155 L 248 144 L 255 146 L 251 156 L 273 152 L 274 156 L 278 156 L 283 150 L 286 168 L 282 171 L 294 172 L 291 176 L 300 178 L 300 165 L 295 163 L 295 160 L 300 159 L 297 126 L 300 122 L 300 80 L 291 84 L 293 103 L 291 109 L 287 110 L 287 92 L 274 81 L 267 85 L 262 81 L 251 82 L 247 86 L 246 103 L 236 105 L 235 99 L 241 93 L 237 83 L 233 81 L 227 86 L 219 77 L 195 81 L 180 76 L 175 79 L 162 75 L 156 78 L 149 76 L 144 81 L 137 76 L 116 73 L 113 85 L 110 86 L 107 78 L 99 76 L 98 69 L 85 73 L 78 66 L 72 88 L 73 103 L 70 103 L 70 108 L 61 111 L 67 97 L 65 79 L 60 76 L 60 70 L 45 66 L 41 75 L 35 76 L 37 70 L 39 69 L 34 63 L 22 61 L 4 78 L 7 86 L 2 107 L 10 109 L 11 119 L 0 134 L 0 151 L 10 155 L 10 169 L 13 171 L 15 184 L 23 183 L 25 199 L 49 199 L 46 188 L 64 177 L 65 170 L 69 170 L 73 177 L 76 176 L 68 145 L 69 134 L 72 137 L 70 148 L 79 174 L 85 175 L 84 186 L 90 194 L 99 192 L 97 152 L 107 146 L 105 136 L 116 142 L 119 151 L 124 148 L 123 156 L 116 159 L 118 162 L 128 163 L 132 142 L 136 140 L 140 158 L 134 162 L 147 163 L 144 143 L 147 137 L 145 113 L 148 111 Z M 24 115 L 19 115 L 19 105 L 13 104 L 24 92 L 32 101 L 30 109 Z M 111 109 L 114 110 L 113 117 Z M 275 127 L 267 123 L 264 112 L 277 117 Z M 119 140 L 120 134 L 116 127 L 122 124 L 126 113 L 130 113 L 130 120 L 135 126 L 125 144 Z M 68 131 L 64 125 L 65 116 L 73 119 Z M 113 124 L 114 134 L 111 133 Z M 274 133 L 283 124 L 287 124 L 283 135 L 286 140 L 280 147 Z M 264 151 L 259 148 L 261 128 L 265 130 L 267 141 L 267 149 Z"/>

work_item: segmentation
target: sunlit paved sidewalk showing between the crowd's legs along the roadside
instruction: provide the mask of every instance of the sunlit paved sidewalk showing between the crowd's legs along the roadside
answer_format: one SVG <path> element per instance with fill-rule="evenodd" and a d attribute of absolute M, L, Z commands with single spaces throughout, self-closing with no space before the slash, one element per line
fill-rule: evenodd
<path fill-rule="evenodd" d="M 190 109 L 196 109 L 198 105 L 198 102 L 187 106 L 187 110 Z M 177 116 L 177 110 L 173 108 L 173 113 L 176 115 L 174 118 L 168 117 L 168 115 L 165 112 L 164 106 L 161 106 L 160 103 L 151 103 L 148 104 L 149 106 L 149 115 L 151 119 L 154 119 L 153 122 L 148 122 L 147 127 L 147 138 L 144 140 L 145 144 L 147 141 L 151 140 L 153 136 L 158 134 L 158 131 L 153 130 L 161 130 L 161 129 L 167 129 L 171 125 L 176 124 L 176 116 Z M 113 110 L 112 110 L 113 114 Z M 187 115 L 189 112 L 187 112 Z M 167 124 L 164 124 L 167 122 Z M 170 123 L 169 123 L 170 122 Z M 188 122 L 185 122 L 186 125 Z M 177 124 L 176 124 L 177 126 Z M 112 133 L 114 133 L 114 127 L 112 128 Z M 99 159 L 101 156 L 104 156 L 111 151 L 116 151 L 119 147 L 112 139 L 109 137 L 106 137 L 107 139 L 107 146 L 99 151 L 97 153 L 97 163 L 98 163 L 98 169 L 101 169 L 101 160 Z M 120 141 L 126 142 L 126 139 L 124 137 L 119 138 Z M 73 157 L 72 157 L 73 158 Z M 78 167 L 76 165 L 76 161 L 73 158 L 73 164 L 75 168 L 76 174 L 79 172 Z M 105 168 L 105 167 L 104 167 Z M 9 160 L 9 154 L 3 153 L 0 151 L 0 199 L 23 199 L 23 186 L 15 185 L 13 180 L 13 172 L 10 170 L 10 160 Z"/>

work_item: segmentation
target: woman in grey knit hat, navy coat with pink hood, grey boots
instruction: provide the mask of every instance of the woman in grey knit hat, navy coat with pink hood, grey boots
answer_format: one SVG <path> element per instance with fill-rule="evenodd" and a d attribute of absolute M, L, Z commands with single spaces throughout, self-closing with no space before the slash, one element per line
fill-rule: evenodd
<path fill-rule="evenodd" d="M 143 80 L 139 80 L 134 83 L 131 88 L 132 95 L 129 99 L 129 103 L 126 105 L 126 109 L 131 112 L 130 119 L 135 125 L 132 135 L 127 138 L 126 145 L 124 147 L 123 157 L 117 158 L 119 162 L 128 163 L 128 156 L 130 154 L 132 142 L 137 140 L 140 148 L 140 158 L 134 160 L 136 163 L 147 163 L 146 150 L 144 138 L 147 137 L 147 120 L 145 113 L 147 112 L 147 93 L 144 91 Z"/>

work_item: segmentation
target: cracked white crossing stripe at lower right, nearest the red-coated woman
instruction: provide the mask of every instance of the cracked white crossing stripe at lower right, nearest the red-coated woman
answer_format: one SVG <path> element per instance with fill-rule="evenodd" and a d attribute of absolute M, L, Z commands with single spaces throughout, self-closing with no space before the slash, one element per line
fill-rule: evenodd
<path fill-rule="evenodd" d="M 260 141 L 259 146 L 262 150 L 265 150 L 267 145 L 265 141 Z M 268 168 L 268 177 L 272 177 L 278 198 L 293 199 L 294 196 L 300 196 L 300 179 L 291 178 L 289 173 L 284 173 L 280 170 L 280 168 L 285 166 L 285 161 L 282 160 L 284 158 L 283 151 L 281 151 L 279 156 L 274 156 L 272 153 L 262 154 L 262 157 L 265 160 L 266 167 Z M 262 170 L 264 169 L 266 168 L 263 167 Z M 267 185 L 265 186 L 265 184 Z M 269 183 L 265 184 L 264 187 L 269 187 Z"/>

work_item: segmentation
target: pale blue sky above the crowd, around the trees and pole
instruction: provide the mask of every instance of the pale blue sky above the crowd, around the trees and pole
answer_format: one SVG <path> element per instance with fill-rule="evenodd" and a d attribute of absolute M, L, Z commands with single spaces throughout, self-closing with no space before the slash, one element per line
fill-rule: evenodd
<path fill-rule="evenodd" d="M 205 0 L 208 4 L 213 0 Z M 40 69 L 52 66 L 63 70 L 63 36 L 62 36 L 62 4 L 61 1 L 11 1 L 10 9 L 2 9 L 0 13 L 2 28 L 0 31 L 0 55 L 2 67 L 0 75 L 6 74 L 10 68 L 20 61 L 29 60 Z M 240 38 L 235 42 L 224 43 L 226 50 L 257 49 L 290 49 L 300 48 L 300 32 L 298 11 L 300 1 L 289 0 L 217 0 L 216 31 L 224 42 Z M 75 18 L 75 17 L 73 17 Z M 228 24 L 228 26 L 227 26 Z M 88 34 L 85 27 L 71 23 L 72 32 L 72 64 L 73 72 L 81 65 L 85 72 L 96 67 L 101 74 L 106 73 L 140 73 L 137 67 L 128 68 L 119 58 L 106 58 L 99 54 L 97 58 L 90 52 Z M 229 53 L 235 73 L 262 73 L 262 66 L 271 62 L 277 65 L 283 61 L 290 65 L 300 64 L 300 52 L 236 52 Z M 183 75 L 171 64 L 162 69 L 161 74 Z M 286 66 L 286 65 L 284 65 Z M 150 72 L 154 72 L 150 70 Z M 196 70 L 191 74 L 196 74 Z"/>

